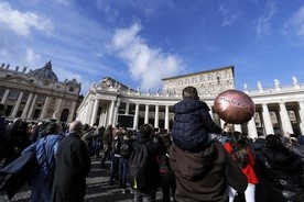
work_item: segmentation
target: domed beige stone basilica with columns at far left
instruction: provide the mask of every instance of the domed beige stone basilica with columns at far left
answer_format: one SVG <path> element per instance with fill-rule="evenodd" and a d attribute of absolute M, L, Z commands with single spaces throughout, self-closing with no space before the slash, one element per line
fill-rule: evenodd
<path fill-rule="evenodd" d="M 59 81 L 51 60 L 34 70 L 20 70 L 18 66 L 12 69 L 6 64 L 0 67 L 0 101 L 8 120 L 70 122 L 79 104 L 80 88 L 76 79 Z"/>

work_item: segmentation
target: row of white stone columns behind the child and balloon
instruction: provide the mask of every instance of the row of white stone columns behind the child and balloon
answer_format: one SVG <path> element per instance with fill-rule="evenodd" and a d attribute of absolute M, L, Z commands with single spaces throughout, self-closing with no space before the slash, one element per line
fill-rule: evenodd
<path fill-rule="evenodd" d="M 265 102 L 265 99 L 260 97 L 254 99 L 254 96 L 252 100 L 256 103 L 254 116 L 248 123 L 235 124 L 235 131 L 248 133 L 252 138 L 257 137 L 258 133 L 304 134 L 304 101 L 273 100 Z M 131 114 L 133 115 L 133 130 L 138 128 L 140 119 L 143 120 L 143 123 L 151 123 L 151 119 L 153 119 L 151 124 L 154 127 L 171 131 L 170 124 L 174 120 L 173 105 L 180 100 L 159 100 L 153 97 L 150 100 L 141 97 L 130 99 L 120 94 L 118 98 L 111 97 L 110 99 L 95 96 L 86 101 L 87 108 L 80 106 L 77 113 L 77 119 L 84 123 L 93 125 L 98 121 L 99 126 L 116 125 L 119 114 Z M 210 109 L 213 109 L 213 101 L 210 98 L 205 100 Z M 160 117 L 161 113 L 164 114 L 164 117 Z M 210 115 L 216 123 L 222 126 L 225 122 L 219 120 L 213 111 L 210 111 Z M 163 125 L 160 125 L 160 120 L 163 120 Z"/>

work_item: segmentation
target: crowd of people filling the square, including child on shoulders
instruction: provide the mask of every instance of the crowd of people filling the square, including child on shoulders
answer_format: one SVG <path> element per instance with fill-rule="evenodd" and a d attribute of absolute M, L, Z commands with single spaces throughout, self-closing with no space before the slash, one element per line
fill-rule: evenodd
<path fill-rule="evenodd" d="M 4 122 L 0 105 L 0 161 L 3 167 L 35 150 L 40 172 L 29 181 L 31 201 L 84 201 L 90 158 L 110 170 L 109 186 L 134 202 L 301 202 L 304 201 L 304 136 L 259 134 L 251 139 L 213 122 L 209 108 L 193 87 L 174 105 L 172 133 L 142 124 L 138 131 L 88 125 Z M 3 110 L 3 109 L 2 109 Z M 144 188 L 130 181 L 137 148 L 148 154 Z M 108 167 L 106 161 L 110 162 Z"/>

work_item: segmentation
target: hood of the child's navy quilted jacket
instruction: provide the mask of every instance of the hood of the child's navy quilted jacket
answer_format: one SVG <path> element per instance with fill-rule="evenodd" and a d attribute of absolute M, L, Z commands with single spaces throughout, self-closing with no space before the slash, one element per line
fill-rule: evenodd
<path fill-rule="evenodd" d="M 192 99 L 182 100 L 181 102 L 176 103 L 173 106 L 173 109 L 175 113 L 181 113 L 181 114 L 189 113 L 198 109 L 210 111 L 210 109 L 205 102 L 199 100 L 192 100 Z"/>

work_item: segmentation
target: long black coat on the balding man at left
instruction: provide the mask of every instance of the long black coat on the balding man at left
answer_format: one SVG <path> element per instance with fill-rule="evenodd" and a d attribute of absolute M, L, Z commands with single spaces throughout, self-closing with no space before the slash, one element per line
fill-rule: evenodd
<path fill-rule="evenodd" d="M 58 148 L 52 201 L 82 201 L 89 171 L 90 157 L 85 143 L 77 134 L 68 134 Z"/>

